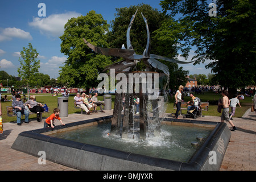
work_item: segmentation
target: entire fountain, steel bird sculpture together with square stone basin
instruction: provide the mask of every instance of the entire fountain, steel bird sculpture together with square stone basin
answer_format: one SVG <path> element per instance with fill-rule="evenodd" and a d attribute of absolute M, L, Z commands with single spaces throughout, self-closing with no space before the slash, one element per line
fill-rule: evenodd
<path fill-rule="evenodd" d="M 137 10 L 138 11 L 138 10 Z M 218 170 L 222 159 L 224 158 L 226 147 L 228 146 L 230 131 L 225 123 L 208 122 L 208 121 L 191 121 L 188 119 L 174 119 L 165 117 L 165 102 L 167 102 L 166 94 L 159 94 L 159 90 L 164 90 L 168 83 L 168 67 L 156 59 L 171 61 L 173 63 L 186 62 L 169 59 L 167 57 L 150 54 L 150 34 L 147 26 L 147 20 L 144 18 L 147 28 L 147 46 L 143 55 L 137 55 L 134 52 L 130 42 L 130 28 L 134 21 L 135 15 L 131 18 L 127 30 L 127 49 L 123 46 L 121 49 L 96 47 L 87 42 L 87 46 L 97 53 L 104 55 L 120 56 L 125 60 L 110 65 L 110 76 L 114 75 L 117 82 L 117 93 L 115 94 L 115 103 L 113 115 L 101 118 L 88 119 L 85 121 L 68 123 L 65 126 L 55 126 L 54 129 L 39 129 L 33 131 L 25 131 L 20 133 L 16 138 L 13 146 L 15 150 L 23 151 L 31 155 L 38 156 L 39 151 L 46 152 L 46 158 L 56 163 L 64 164 L 69 167 L 81 170 Z M 143 61 L 147 65 L 144 72 L 134 72 L 132 69 L 137 65 L 138 61 Z M 191 63 L 191 62 L 187 62 Z M 114 69 L 114 72 L 112 73 Z M 164 72 L 164 73 L 159 73 Z M 100 74 L 101 75 L 101 74 Z M 102 76 L 102 75 L 101 75 Z M 108 83 L 106 75 L 103 75 Z M 122 77 L 122 80 L 120 79 Z M 118 79 L 117 79 L 118 78 Z M 160 82 L 159 86 L 159 80 Z M 110 81 L 111 82 L 111 81 Z M 105 84 L 108 88 L 108 84 Z M 111 86 L 111 84 L 110 84 Z M 113 85 L 112 85 L 113 86 Z M 138 94 L 140 98 L 139 114 L 134 114 L 134 95 Z M 122 111 L 122 100 L 125 100 L 124 111 Z M 81 128 L 90 126 L 100 126 L 101 123 L 111 123 L 108 131 L 100 133 L 106 140 L 112 140 L 117 137 L 119 142 L 132 140 L 132 145 L 137 143 L 144 144 L 148 139 L 162 137 L 163 125 L 185 125 L 193 127 L 211 127 L 212 131 L 203 138 L 195 136 L 196 142 L 188 141 L 188 146 L 194 151 L 191 156 L 187 156 L 185 160 L 178 161 L 169 158 L 174 151 L 168 152 L 163 158 L 158 157 L 158 151 L 153 148 L 141 149 L 141 151 L 133 151 L 130 149 L 121 150 L 123 147 L 112 148 L 110 146 L 102 146 L 107 143 L 106 140 L 101 144 L 96 142 L 84 142 L 81 140 L 70 140 L 60 137 L 59 134 L 69 133 L 70 130 L 75 131 L 77 135 Z M 96 133 L 97 130 L 93 129 Z M 187 131 L 186 128 L 181 130 Z M 208 129 L 207 129 L 208 130 Z M 194 130 L 197 134 L 197 130 Z M 87 134 L 88 132 L 86 132 Z M 172 134 L 169 132 L 168 134 Z M 84 133 L 82 134 L 84 135 Z M 92 134 L 93 135 L 93 134 Z M 106 137 L 106 135 L 108 137 Z M 185 135 L 185 134 L 184 134 Z M 200 134 L 201 135 L 201 134 Z M 81 138 L 78 136 L 77 138 Z M 86 138 L 90 138 L 86 136 Z M 134 138 L 134 139 L 133 139 Z M 171 137 L 172 138 L 172 137 Z M 168 138 L 167 140 L 171 140 Z M 198 139 L 196 139 L 198 138 Z M 100 138 L 98 138 L 101 140 Z M 182 140 L 182 139 L 180 139 Z M 170 142 L 170 141 L 169 141 Z M 114 140 L 115 145 L 117 140 Z M 127 146 L 127 144 L 125 144 Z M 167 147 L 168 148 L 168 147 Z M 169 147 L 171 148 L 171 147 Z M 179 149 L 182 151 L 182 148 Z M 154 153 L 146 154 L 146 151 Z M 212 152 L 214 151 L 214 152 Z M 210 154 L 216 154 L 211 156 Z M 216 157 L 216 164 L 209 162 L 211 157 Z"/>

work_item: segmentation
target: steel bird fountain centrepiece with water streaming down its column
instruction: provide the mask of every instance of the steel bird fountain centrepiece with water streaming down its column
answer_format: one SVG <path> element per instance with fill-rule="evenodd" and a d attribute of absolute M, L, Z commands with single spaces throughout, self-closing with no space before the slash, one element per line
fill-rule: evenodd
<path fill-rule="evenodd" d="M 110 134 L 118 134 L 122 138 L 127 138 L 127 131 L 129 130 L 129 126 L 133 125 L 134 123 L 134 119 L 135 119 L 134 111 L 133 111 L 134 92 L 139 94 L 138 97 L 140 100 L 139 118 L 136 118 L 136 120 L 139 120 L 140 137 L 146 138 L 147 136 L 146 133 L 148 132 L 150 109 L 152 109 L 152 115 L 153 115 L 151 123 L 154 126 L 154 130 L 152 132 L 154 133 L 155 136 L 159 136 L 159 133 L 160 133 L 159 107 L 163 107 L 164 103 L 162 102 L 161 105 L 158 105 L 159 73 L 155 71 L 162 71 L 166 75 L 166 78 L 163 79 L 163 80 L 166 80 L 166 82 L 162 84 L 163 87 L 161 88 L 161 90 L 165 90 L 169 80 L 169 69 L 167 65 L 161 63 L 156 59 L 166 60 L 172 63 L 181 63 L 181 64 L 188 64 L 193 62 L 193 61 L 190 61 L 190 62 L 177 61 L 174 59 L 170 59 L 168 57 L 150 54 L 150 31 L 148 28 L 147 19 L 143 16 L 142 13 L 141 14 L 142 14 L 143 20 L 146 23 L 147 44 L 146 44 L 146 48 L 144 49 L 143 55 L 137 55 L 133 49 L 133 46 L 131 46 L 131 40 L 130 40 L 130 30 L 134 22 L 135 16 L 137 14 L 137 11 L 132 16 L 130 24 L 127 28 L 127 33 L 126 33 L 127 49 L 125 48 L 124 45 L 122 46 L 121 49 L 96 47 L 84 39 L 84 42 L 86 43 L 86 45 L 97 53 L 101 53 L 102 55 L 108 55 L 108 56 L 119 56 L 125 59 L 125 60 L 119 61 L 118 63 L 109 65 L 106 68 L 106 69 L 110 69 L 110 76 L 112 77 L 113 77 L 113 74 L 111 73 L 111 71 L 113 70 L 115 72 L 114 73 L 115 78 L 116 78 L 115 75 L 122 74 L 122 76 L 120 76 L 122 77 L 122 84 L 121 84 L 122 88 L 119 88 L 119 89 L 117 88 L 117 92 L 115 93 L 115 104 L 114 104 L 115 109 L 114 109 L 113 118 L 112 118 L 112 130 L 110 132 Z M 130 72 L 134 67 L 136 67 L 139 61 L 143 61 L 143 63 L 146 65 L 146 72 L 135 72 L 135 73 Z M 152 75 L 153 75 L 153 78 L 151 77 Z M 101 76 L 100 74 L 100 78 L 98 78 L 98 80 L 101 80 L 101 78 L 104 76 Z M 110 78 L 110 79 L 113 79 L 113 78 Z M 134 79 L 135 79 L 135 82 L 134 82 Z M 106 81 L 106 84 L 104 85 L 105 88 L 107 88 L 106 89 L 107 92 L 108 92 L 108 84 L 109 84 L 108 81 Z M 167 96 L 165 97 L 167 98 Z M 122 115 L 120 111 L 122 110 L 122 107 L 123 107 L 122 105 L 123 98 L 125 100 L 125 104 L 124 104 L 125 111 L 124 111 L 124 114 Z"/>

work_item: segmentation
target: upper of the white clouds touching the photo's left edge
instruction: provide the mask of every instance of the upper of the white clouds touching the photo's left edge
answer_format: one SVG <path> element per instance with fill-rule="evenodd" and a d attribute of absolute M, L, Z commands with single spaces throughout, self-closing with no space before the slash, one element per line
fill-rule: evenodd
<path fill-rule="evenodd" d="M 30 32 L 26 32 L 20 28 L 4 28 L 0 32 L 0 42 L 3 40 L 12 40 L 13 38 L 32 40 Z"/>

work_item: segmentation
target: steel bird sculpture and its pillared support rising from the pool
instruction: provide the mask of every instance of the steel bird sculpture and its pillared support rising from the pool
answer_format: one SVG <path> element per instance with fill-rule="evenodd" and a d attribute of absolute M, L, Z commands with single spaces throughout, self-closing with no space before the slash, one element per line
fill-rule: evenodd
<path fill-rule="evenodd" d="M 138 11 L 138 10 L 137 10 Z M 154 136 L 160 135 L 160 118 L 159 118 L 159 107 L 158 104 L 158 98 L 152 97 L 150 98 L 151 94 L 150 92 L 143 92 L 142 93 L 142 74 L 146 75 L 155 75 L 155 79 L 159 79 L 158 72 L 155 71 L 162 71 L 166 75 L 167 79 L 169 78 L 169 69 L 167 65 L 161 63 L 160 60 L 166 60 L 170 61 L 171 63 L 179 63 L 179 64 L 188 64 L 192 63 L 193 61 L 184 62 L 179 61 L 175 59 L 170 59 L 168 57 L 158 56 L 154 54 L 150 54 L 150 31 L 147 24 L 147 19 L 143 16 L 144 22 L 146 23 L 146 29 L 147 29 L 147 44 L 146 48 L 144 49 L 143 55 L 137 55 L 133 49 L 133 46 L 131 46 L 131 39 L 130 39 L 130 30 L 131 26 L 134 22 L 135 15 L 137 14 L 137 11 L 131 18 L 129 27 L 127 29 L 126 33 L 126 42 L 127 42 L 127 49 L 123 45 L 122 48 L 102 48 L 102 47 L 96 47 L 87 42 L 84 38 L 84 42 L 86 45 L 92 49 L 93 51 L 97 53 L 101 53 L 102 55 L 107 56 L 117 56 L 117 57 L 123 57 L 122 61 L 119 61 L 117 63 L 108 65 L 104 71 L 107 69 L 114 69 L 115 73 L 122 72 L 126 75 L 129 75 L 129 73 L 137 73 L 137 77 L 139 77 L 139 90 L 137 89 L 137 93 L 139 93 L 139 117 L 137 115 L 134 115 L 134 88 L 135 85 L 132 86 L 127 84 L 127 92 L 125 93 L 116 93 L 115 94 L 115 103 L 114 103 L 114 111 L 113 111 L 113 118 L 112 118 L 112 127 L 110 131 L 110 135 L 118 135 L 122 138 L 127 138 L 129 130 L 133 130 L 132 127 L 134 126 L 134 122 L 139 122 L 139 137 L 142 139 L 145 139 L 148 134 L 148 124 L 149 122 L 154 126 L 153 129 L 151 129 L 151 133 L 153 133 Z M 143 63 L 146 65 L 146 72 L 131 72 L 131 70 L 136 67 L 137 63 L 139 61 L 143 61 Z M 157 76 L 156 76 L 157 75 Z M 158 88 L 158 85 L 154 84 L 154 78 L 152 78 L 152 85 L 151 87 Z M 127 80 L 129 81 L 129 80 Z M 157 80 L 158 81 L 158 80 Z M 130 86 L 130 88 L 129 88 Z M 138 88 L 138 87 L 137 87 Z M 139 91 L 139 92 L 138 92 Z M 136 92 L 135 92 L 136 93 Z M 155 93 L 154 93 L 155 94 Z M 158 94 L 158 93 L 157 93 Z M 123 107 L 122 100 L 125 98 L 125 104 L 124 104 L 124 112 L 122 114 L 121 110 Z M 163 103 L 162 103 L 163 104 Z M 152 117 L 150 116 L 150 113 L 152 113 Z"/>

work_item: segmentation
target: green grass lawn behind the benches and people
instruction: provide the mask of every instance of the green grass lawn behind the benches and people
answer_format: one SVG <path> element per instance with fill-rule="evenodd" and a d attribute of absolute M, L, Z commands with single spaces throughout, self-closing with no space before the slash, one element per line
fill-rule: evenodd
<path fill-rule="evenodd" d="M 2 94 L 2 96 L 4 96 L 5 94 Z M 7 95 L 8 98 L 10 99 L 11 96 L 10 94 Z M 49 113 L 43 113 L 43 118 L 49 117 L 49 115 L 51 115 L 53 113 L 53 109 L 55 107 L 57 107 L 57 97 L 60 96 L 52 96 L 52 94 L 38 94 L 36 95 L 36 101 L 41 102 L 42 104 L 47 104 L 47 106 L 49 107 Z M 72 113 L 80 113 L 81 110 L 80 109 L 75 109 L 74 107 L 74 102 L 73 102 L 73 97 L 75 95 L 71 95 L 68 98 L 68 113 L 72 114 Z M 220 98 L 220 94 L 216 94 L 213 92 L 205 92 L 202 95 L 195 95 L 196 97 L 199 97 L 201 99 L 202 102 L 207 102 L 207 101 L 218 101 L 218 99 Z M 23 96 L 22 96 L 23 98 Z M 114 98 L 115 96 L 112 95 L 112 109 L 114 108 Z M 245 113 L 245 111 L 247 111 L 247 109 L 250 108 L 251 106 L 251 99 L 252 97 L 246 97 L 245 100 L 240 100 L 240 104 L 242 105 L 242 107 L 239 107 L 237 105 L 237 109 L 236 109 L 236 115 L 235 117 L 242 117 L 242 115 Z M 98 100 L 103 100 L 103 96 L 98 96 Z M 168 100 L 168 104 L 167 104 L 167 111 L 166 113 L 175 113 L 176 110 L 174 110 L 174 98 L 170 98 Z M 185 96 L 184 97 L 184 101 L 187 102 L 190 100 L 190 97 Z M 12 102 L 1 102 L 2 105 L 2 119 L 3 122 L 11 122 L 11 121 L 16 121 L 16 117 L 9 117 L 7 116 L 6 113 L 6 106 L 11 106 Z M 185 110 L 183 110 L 183 114 L 185 114 Z M 217 112 L 217 105 L 209 105 L 209 111 L 203 111 L 203 115 L 213 115 L 213 116 L 221 116 L 221 113 Z M 36 114 L 30 114 L 30 119 L 31 118 L 36 118 Z M 24 119 L 24 116 L 23 118 Z"/>

